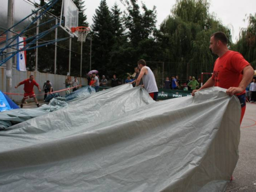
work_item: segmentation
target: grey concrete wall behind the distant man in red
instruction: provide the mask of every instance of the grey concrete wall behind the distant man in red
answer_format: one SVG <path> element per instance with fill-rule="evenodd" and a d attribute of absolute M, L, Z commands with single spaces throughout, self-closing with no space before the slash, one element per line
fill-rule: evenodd
<path fill-rule="evenodd" d="M 44 85 L 44 82 L 46 80 L 50 80 L 53 86 L 54 91 L 58 91 L 61 89 L 65 89 L 65 79 L 67 76 L 65 75 L 54 75 L 49 73 L 40 73 L 40 72 L 31 72 L 31 71 L 17 71 L 16 69 L 13 69 L 13 76 L 12 76 L 12 93 L 18 93 L 18 94 L 24 94 L 24 85 L 19 86 L 17 89 L 14 87 L 20 82 L 27 78 L 29 78 L 30 75 L 34 75 L 35 81 L 39 84 L 40 89 L 42 90 L 42 86 Z M 71 76 L 72 80 L 74 79 L 74 76 Z M 80 84 L 83 86 L 87 86 L 87 78 L 80 78 L 77 77 L 77 80 Z M 0 67 L 0 90 L 2 92 L 6 92 L 6 68 Z M 39 94 L 39 91 L 37 87 L 34 86 L 35 94 Z M 41 93 L 44 90 L 42 90 Z M 59 92 L 61 96 L 65 95 L 65 91 Z M 21 95 L 8 95 L 11 99 L 13 99 L 16 102 L 20 102 L 23 98 Z M 37 99 L 43 100 L 44 95 L 36 96 Z M 33 100 L 33 99 L 27 99 L 27 100 Z"/>

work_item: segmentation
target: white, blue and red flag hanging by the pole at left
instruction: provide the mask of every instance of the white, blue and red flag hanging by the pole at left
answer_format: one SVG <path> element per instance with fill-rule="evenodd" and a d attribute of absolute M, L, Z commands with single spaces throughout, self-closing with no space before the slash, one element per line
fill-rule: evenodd
<path fill-rule="evenodd" d="M 26 45 L 26 41 L 24 41 L 26 38 L 25 37 L 18 37 L 18 49 L 21 50 L 24 48 Z M 24 42 L 22 42 L 24 41 Z M 17 53 L 17 70 L 18 71 L 27 71 L 26 70 L 26 51 L 20 51 Z"/>

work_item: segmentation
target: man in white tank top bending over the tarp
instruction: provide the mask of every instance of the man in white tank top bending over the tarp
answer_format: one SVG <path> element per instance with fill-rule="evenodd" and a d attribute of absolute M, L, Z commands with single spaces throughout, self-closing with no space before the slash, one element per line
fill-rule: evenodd
<path fill-rule="evenodd" d="M 150 94 L 152 99 L 156 101 L 158 88 L 154 73 L 151 71 L 149 67 L 146 66 L 146 61 L 143 59 L 140 59 L 138 61 L 138 67 L 140 68 L 140 74 L 136 79 L 135 87 L 139 86 L 140 80 L 142 78 L 145 90 L 147 91 L 148 94 Z"/>

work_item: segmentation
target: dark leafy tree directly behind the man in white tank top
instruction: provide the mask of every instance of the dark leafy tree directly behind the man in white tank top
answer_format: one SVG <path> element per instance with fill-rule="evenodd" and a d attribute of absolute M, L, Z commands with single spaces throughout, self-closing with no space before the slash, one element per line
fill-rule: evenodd
<path fill-rule="evenodd" d="M 156 36 L 156 7 L 148 9 L 145 4 L 141 7 L 137 0 L 121 0 L 126 7 L 124 25 L 127 29 L 126 45 L 122 51 L 125 54 L 123 62 L 126 73 L 134 72 L 139 59 L 158 60 L 159 47 Z"/>

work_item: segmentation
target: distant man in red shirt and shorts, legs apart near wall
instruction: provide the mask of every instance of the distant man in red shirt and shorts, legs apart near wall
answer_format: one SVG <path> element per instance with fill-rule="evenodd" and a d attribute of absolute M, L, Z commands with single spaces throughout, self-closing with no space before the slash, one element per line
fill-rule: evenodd
<path fill-rule="evenodd" d="M 20 108 L 23 108 L 23 104 L 25 102 L 25 100 L 29 97 L 29 98 L 33 98 L 37 107 L 39 108 L 40 104 L 37 102 L 37 99 L 35 97 L 35 93 L 34 93 L 34 86 L 37 87 L 37 89 L 39 90 L 39 92 L 41 92 L 40 88 L 39 88 L 39 84 L 34 80 L 34 75 L 30 75 L 29 79 L 26 79 L 20 83 L 17 84 L 17 86 L 15 87 L 15 89 L 17 89 L 20 85 L 24 84 L 24 97 L 22 99 L 22 104 L 20 104 Z"/>

